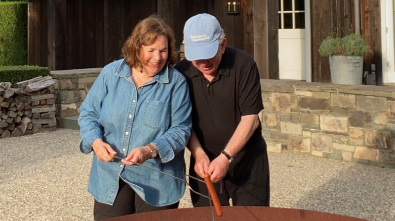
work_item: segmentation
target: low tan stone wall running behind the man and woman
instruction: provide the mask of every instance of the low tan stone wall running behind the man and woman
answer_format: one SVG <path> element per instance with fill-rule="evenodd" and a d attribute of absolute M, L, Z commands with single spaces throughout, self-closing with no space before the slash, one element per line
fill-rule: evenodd
<path fill-rule="evenodd" d="M 79 114 L 100 70 L 51 72 L 57 117 Z M 395 87 L 269 79 L 261 86 L 269 151 L 395 168 Z"/>

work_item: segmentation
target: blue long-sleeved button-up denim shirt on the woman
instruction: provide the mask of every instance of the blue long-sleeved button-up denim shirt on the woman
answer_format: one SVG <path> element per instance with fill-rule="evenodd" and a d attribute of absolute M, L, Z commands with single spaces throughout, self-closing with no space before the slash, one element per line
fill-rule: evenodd
<path fill-rule="evenodd" d="M 114 61 L 102 69 L 80 110 L 81 152 L 90 153 L 93 141 L 100 138 L 125 158 L 133 148 L 152 142 L 160 157 L 143 164 L 185 179 L 191 104 L 185 77 L 177 70 L 166 66 L 136 88 L 130 67 L 124 60 Z M 113 204 L 120 178 L 154 206 L 176 203 L 184 194 L 180 180 L 118 159 L 100 161 L 93 154 L 88 191 L 99 202 Z"/>

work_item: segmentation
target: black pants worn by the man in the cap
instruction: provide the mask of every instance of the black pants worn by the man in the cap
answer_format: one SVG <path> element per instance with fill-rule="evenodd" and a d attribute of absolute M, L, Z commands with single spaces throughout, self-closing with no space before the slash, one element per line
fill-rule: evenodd
<path fill-rule="evenodd" d="M 212 159 L 211 159 L 212 160 Z M 194 158 L 191 156 L 189 175 L 195 177 Z M 205 183 L 189 179 L 190 187 L 204 195 L 208 195 Z M 242 150 L 233 162 L 224 179 L 215 183 L 221 205 L 229 205 L 229 198 L 235 206 L 269 206 L 269 163 L 267 159 L 266 143 L 262 139 Z M 191 199 L 193 206 L 209 206 L 207 198 L 193 192 Z"/>

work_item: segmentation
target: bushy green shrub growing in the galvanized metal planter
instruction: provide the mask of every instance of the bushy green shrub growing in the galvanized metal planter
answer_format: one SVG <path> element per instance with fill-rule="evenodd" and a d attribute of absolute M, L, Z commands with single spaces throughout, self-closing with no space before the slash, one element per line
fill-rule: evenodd
<path fill-rule="evenodd" d="M 318 52 L 324 57 L 363 56 L 367 49 L 365 39 L 360 34 L 352 33 L 341 38 L 328 36 L 321 42 Z"/>

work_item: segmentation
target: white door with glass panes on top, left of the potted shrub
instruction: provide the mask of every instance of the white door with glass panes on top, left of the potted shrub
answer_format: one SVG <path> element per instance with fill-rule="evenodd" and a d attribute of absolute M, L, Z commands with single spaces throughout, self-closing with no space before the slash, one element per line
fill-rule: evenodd
<path fill-rule="evenodd" d="M 309 0 L 279 0 L 280 79 L 311 81 L 309 6 Z"/>

